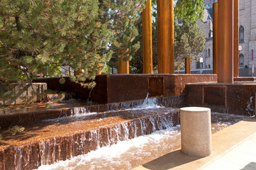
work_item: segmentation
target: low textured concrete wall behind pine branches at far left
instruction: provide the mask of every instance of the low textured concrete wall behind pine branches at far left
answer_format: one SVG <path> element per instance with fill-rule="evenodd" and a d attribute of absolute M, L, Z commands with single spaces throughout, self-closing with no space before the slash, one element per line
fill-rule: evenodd
<path fill-rule="evenodd" d="M 0 103 L 8 106 L 40 101 L 44 90 L 47 90 L 46 83 L 0 84 Z"/>

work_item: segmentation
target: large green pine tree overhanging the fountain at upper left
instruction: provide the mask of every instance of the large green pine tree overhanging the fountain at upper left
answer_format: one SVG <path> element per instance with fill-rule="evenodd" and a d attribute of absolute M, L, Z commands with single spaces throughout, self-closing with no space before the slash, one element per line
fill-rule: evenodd
<path fill-rule="evenodd" d="M 132 54 L 134 26 L 145 0 L 2 0 L 0 4 L 0 81 L 28 81 L 33 75 L 64 74 L 73 81 L 94 79 L 99 63 Z M 132 55 L 130 55 L 132 56 Z M 94 86 L 94 83 L 81 83 Z"/>

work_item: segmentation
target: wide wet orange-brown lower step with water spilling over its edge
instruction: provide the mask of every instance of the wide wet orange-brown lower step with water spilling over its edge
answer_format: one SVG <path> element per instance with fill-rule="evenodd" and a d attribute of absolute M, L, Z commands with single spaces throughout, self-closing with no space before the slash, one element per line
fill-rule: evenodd
<path fill-rule="evenodd" d="M 165 107 L 80 113 L 28 123 L 16 136 L 2 132 L 0 169 L 36 169 L 177 124 L 179 109 Z"/>

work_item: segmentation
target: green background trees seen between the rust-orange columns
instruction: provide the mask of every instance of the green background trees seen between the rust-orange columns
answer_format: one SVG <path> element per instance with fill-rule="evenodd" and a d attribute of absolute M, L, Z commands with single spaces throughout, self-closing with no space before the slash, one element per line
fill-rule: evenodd
<path fill-rule="evenodd" d="M 174 60 L 175 67 L 184 67 L 184 58 L 192 59 L 204 50 L 204 34 L 197 27 L 196 21 L 204 16 L 204 1 L 174 0 Z M 177 24 L 179 21 L 179 25 Z M 142 16 L 136 22 L 139 35 L 135 42 L 143 43 Z M 153 67 L 157 69 L 157 0 L 152 0 L 152 58 Z M 132 73 L 143 73 L 143 49 L 140 47 L 130 61 Z"/>

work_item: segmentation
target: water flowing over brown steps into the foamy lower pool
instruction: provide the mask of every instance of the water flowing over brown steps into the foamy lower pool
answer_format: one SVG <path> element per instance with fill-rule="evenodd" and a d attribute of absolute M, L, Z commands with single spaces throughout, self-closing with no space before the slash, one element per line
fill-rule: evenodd
<path fill-rule="evenodd" d="M 25 132 L 0 140 L 0 161 L 16 170 L 133 169 L 180 147 L 179 109 L 172 107 L 182 100 L 147 97 L 104 108 L 83 106 L 28 122 Z M 213 132 L 246 118 L 211 116 Z"/>

